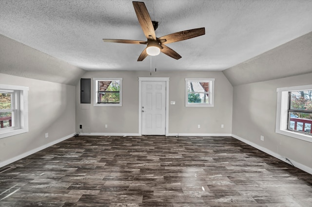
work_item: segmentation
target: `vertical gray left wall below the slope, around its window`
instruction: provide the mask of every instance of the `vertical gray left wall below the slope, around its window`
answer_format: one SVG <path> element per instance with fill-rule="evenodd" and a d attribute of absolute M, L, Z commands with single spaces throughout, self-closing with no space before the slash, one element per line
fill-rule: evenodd
<path fill-rule="evenodd" d="M 75 86 L 3 73 L 0 83 L 29 87 L 29 132 L 0 139 L 0 167 L 75 133 Z M 48 138 L 45 133 L 49 133 Z"/>

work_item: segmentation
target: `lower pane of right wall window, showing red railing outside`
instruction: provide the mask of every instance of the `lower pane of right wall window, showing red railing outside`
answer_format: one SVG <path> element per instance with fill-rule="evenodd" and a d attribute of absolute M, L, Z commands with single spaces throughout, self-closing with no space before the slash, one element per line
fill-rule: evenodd
<path fill-rule="evenodd" d="M 296 131 L 311 133 L 312 114 L 291 112 L 288 128 Z"/>

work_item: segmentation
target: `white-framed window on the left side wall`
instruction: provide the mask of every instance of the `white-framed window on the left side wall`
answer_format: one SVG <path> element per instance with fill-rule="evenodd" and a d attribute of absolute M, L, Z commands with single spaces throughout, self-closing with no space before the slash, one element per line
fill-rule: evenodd
<path fill-rule="evenodd" d="M 0 138 L 28 132 L 28 87 L 0 84 Z"/>

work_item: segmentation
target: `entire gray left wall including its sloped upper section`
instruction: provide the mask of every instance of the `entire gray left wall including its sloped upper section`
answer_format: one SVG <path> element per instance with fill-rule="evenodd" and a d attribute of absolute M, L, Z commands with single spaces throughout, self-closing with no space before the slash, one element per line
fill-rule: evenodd
<path fill-rule="evenodd" d="M 84 72 L 0 35 L 0 84 L 29 87 L 29 132 L 0 139 L 0 167 L 75 133 L 75 85 Z"/>

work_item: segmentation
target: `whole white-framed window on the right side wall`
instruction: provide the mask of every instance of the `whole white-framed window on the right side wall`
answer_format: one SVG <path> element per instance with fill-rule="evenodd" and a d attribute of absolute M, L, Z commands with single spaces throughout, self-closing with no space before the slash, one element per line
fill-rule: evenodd
<path fill-rule="evenodd" d="M 277 88 L 275 132 L 312 142 L 312 85 Z"/>

